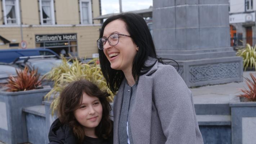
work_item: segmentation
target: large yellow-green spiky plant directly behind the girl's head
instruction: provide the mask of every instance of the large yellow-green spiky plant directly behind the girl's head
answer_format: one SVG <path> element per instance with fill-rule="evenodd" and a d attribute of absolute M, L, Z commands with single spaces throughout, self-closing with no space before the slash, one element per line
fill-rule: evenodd
<path fill-rule="evenodd" d="M 58 95 L 70 82 L 80 80 L 84 78 L 88 81 L 96 84 L 101 90 L 107 90 L 111 95 L 108 97 L 108 101 L 112 102 L 114 94 L 108 89 L 107 83 L 104 80 L 102 71 L 99 64 L 95 63 L 97 59 L 93 59 L 88 63 L 80 63 L 77 58 L 73 59 L 73 63 L 70 64 L 68 60 L 62 57 L 62 64 L 51 69 L 50 72 L 46 73 L 47 79 L 54 81 L 53 89 L 45 95 L 45 98 L 50 98 L 53 95 L 53 102 L 51 103 L 52 114 L 57 109 L 59 102 Z"/>

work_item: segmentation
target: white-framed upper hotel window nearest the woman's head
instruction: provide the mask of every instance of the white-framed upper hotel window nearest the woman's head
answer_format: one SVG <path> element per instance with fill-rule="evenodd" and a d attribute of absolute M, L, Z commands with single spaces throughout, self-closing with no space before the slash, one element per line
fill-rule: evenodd
<path fill-rule="evenodd" d="M 91 13 L 91 0 L 80 0 L 80 19 L 81 24 L 93 23 Z"/>

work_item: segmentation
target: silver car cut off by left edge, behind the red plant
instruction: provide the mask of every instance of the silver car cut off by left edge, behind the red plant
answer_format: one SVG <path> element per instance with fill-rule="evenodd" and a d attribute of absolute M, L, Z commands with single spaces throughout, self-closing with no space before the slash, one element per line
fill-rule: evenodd
<path fill-rule="evenodd" d="M 7 83 L 7 79 L 10 75 L 17 76 L 15 69 L 20 70 L 20 68 L 15 65 L 0 62 L 0 84 Z"/>

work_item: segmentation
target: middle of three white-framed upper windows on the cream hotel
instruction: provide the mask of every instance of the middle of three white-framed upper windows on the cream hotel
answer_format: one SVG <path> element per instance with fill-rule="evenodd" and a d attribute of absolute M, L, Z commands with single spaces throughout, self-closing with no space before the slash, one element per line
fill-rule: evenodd
<path fill-rule="evenodd" d="M 40 0 L 41 24 L 55 24 L 53 0 Z"/>

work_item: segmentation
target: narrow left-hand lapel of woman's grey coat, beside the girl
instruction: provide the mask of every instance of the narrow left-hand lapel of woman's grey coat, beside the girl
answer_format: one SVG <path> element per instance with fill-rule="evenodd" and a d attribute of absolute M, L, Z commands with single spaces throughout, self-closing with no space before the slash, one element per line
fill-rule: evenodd
<path fill-rule="evenodd" d="M 118 90 L 117 95 L 114 97 L 114 104 L 113 104 L 113 114 L 114 114 L 114 144 L 119 144 L 119 137 L 118 137 L 118 126 L 119 120 L 121 115 L 121 108 L 123 103 L 123 89 L 125 85 L 125 78 L 123 79 L 120 89 Z"/>

